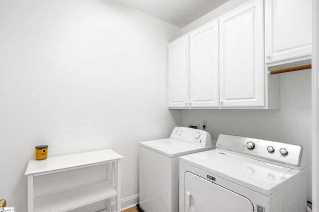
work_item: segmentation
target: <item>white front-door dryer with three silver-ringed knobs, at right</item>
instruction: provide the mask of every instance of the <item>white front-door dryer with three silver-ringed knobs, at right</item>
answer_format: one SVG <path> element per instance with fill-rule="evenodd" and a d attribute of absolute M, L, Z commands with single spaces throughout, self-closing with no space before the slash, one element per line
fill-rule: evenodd
<path fill-rule="evenodd" d="M 303 147 L 220 135 L 216 149 L 180 157 L 179 212 L 305 212 Z"/>

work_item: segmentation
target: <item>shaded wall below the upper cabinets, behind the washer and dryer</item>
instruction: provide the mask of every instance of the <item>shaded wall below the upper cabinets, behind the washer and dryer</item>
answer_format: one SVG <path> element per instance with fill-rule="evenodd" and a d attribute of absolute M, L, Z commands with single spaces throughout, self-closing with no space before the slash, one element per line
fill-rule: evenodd
<path fill-rule="evenodd" d="M 208 121 L 207 131 L 302 145 L 308 166 L 311 201 L 311 70 L 281 74 L 280 110 L 183 110 L 182 124 Z"/>

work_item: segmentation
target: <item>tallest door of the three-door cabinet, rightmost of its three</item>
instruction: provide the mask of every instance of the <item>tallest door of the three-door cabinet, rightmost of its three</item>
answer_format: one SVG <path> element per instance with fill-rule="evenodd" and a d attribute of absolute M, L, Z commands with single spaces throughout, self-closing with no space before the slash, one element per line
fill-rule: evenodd
<path fill-rule="evenodd" d="M 243 4 L 219 25 L 220 106 L 263 106 L 263 1 Z"/>

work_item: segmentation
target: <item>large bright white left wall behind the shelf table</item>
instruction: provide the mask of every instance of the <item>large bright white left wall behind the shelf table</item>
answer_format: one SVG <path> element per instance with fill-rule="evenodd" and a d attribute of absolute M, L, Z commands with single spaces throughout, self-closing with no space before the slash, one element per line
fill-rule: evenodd
<path fill-rule="evenodd" d="M 169 136 L 167 42 L 181 29 L 109 0 L 0 0 L 0 199 L 26 211 L 27 161 L 112 148 L 138 194 L 139 141 Z"/>

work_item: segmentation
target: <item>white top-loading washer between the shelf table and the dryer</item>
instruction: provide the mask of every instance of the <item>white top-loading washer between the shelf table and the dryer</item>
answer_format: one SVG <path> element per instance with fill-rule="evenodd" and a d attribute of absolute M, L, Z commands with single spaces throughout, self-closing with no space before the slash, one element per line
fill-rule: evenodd
<path fill-rule="evenodd" d="M 212 148 L 209 133 L 175 127 L 169 139 L 140 142 L 140 203 L 144 212 L 178 212 L 179 156 Z"/>

